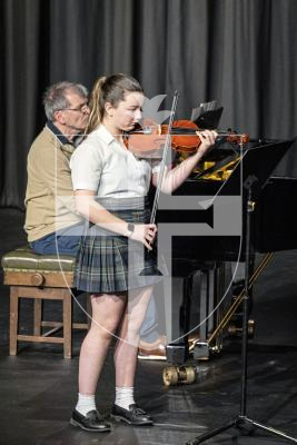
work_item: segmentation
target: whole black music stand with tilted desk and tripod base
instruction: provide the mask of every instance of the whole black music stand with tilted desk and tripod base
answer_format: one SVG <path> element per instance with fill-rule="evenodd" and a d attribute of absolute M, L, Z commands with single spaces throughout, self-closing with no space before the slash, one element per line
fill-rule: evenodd
<path fill-rule="evenodd" d="M 247 405 L 247 346 L 248 346 L 248 304 L 249 304 L 249 259 L 250 259 L 250 217 L 254 211 L 255 202 L 257 201 L 261 189 L 269 179 L 273 170 L 284 157 L 287 150 L 291 147 L 294 140 L 281 141 L 276 144 L 268 144 L 260 147 L 255 147 L 247 150 L 240 164 L 235 168 L 230 178 L 226 182 L 225 191 L 234 190 L 234 181 L 236 185 L 240 184 L 240 177 L 242 172 L 242 186 L 247 194 L 246 204 L 246 253 L 245 253 L 245 295 L 242 300 L 242 340 L 241 340 L 241 393 L 240 393 L 240 411 L 239 414 L 228 422 L 227 424 L 200 436 L 195 437 L 192 441 L 187 442 L 187 445 L 197 445 L 209 439 L 210 437 L 217 436 L 218 434 L 236 427 L 241 426 L 256 426 L 257 428 L 264 429 L 278 437 L 286 438 L 290 442 L 297 443 L 297 438 L 288 436 L 287 434 L 275 429 L 270 426 L 260 424 L 246 415 Z M 242 168 L 240 168 L 242 167 Z M 224 190 L 222 190 L 224 194 Z"/>

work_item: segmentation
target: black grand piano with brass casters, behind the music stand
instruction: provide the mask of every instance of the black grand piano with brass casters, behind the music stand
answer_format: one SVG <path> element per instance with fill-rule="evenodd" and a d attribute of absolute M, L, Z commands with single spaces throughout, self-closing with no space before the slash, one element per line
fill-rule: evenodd
<path fill-rule="evenodd" d="M 212 204 L 198 210 L 196 208 L 178 209 L 177 207 L 159 208 L 158 224 L 169 225 L 168 227 L 170 224 L 176 224 L 186 228 L 185 235 L 180 235 L 179 231 L 177 236 L 172 236 L 171 251 L 169 253 L 172 258 L 172 276 L 184 278 L 180 333 L 185 337 L 178 343 L 174 342 L 168 345 L 168 362 L 181 364 L 189 354 L 187 333 L 191 309 L 192 277 L 197 270 L 201 271 L 201 279 L 205 277 L 206 280 L 206 285 L 201 284 L 200 289 L 207 290 L 205 290 L 205 295 L 200 296 L 200 320 L 198 320 L 200 332 L 194 356 L 198 359 L 208 359 L 212 349 L 221 348 L 221 329 L 217 329 L 217 327 L 219 324 L 221 327 L 226 326 L 226 323 L 221 323 L 224 314 L 215 312 L 211 317 L 208 317 L 208 314 L 216 307 L 217 300 L 221 296 L 221 290 L 219 290 L 221 268 L 230 261 L 245 261 L 246 253 L 242 239 L 246 236 L 248 188 L 246 181 L 250 177 L 253 180 L 256 178 L 250 233 L 251 258 L 256 253 L 269 255 L 278 250 L 297 248 L 297 217 L 293 209 L 294 199 L 297 196 L 297 177 L 274 176 L 278 162 L 288 150 L 294 149 L 294 146 L 296 146 L 294 140 L 263 140 L 248 144 L 240 154 L 234 147 L 229 148 L 228 145 L 215 148 L 175 194 L 187 200 L 199 196 L 202 197 L 202 202 Z M 216 230 L 216 199 L 238 198 L 238 196 L 241 199 L 235 200 L 235 202 L 240 207 L 241 212 L 240 235 L 238 233 L 236 235 L 218 234 L 219 230 Z M 216 197 L 215 200 L 214 197 Z M 236 209 L 236 215 L 238 216 L 238 209 Z M 190 236 L 187 224 L 207 226 L 207 235 Z M 254 266 L 251 265 L 251 267 Z M 209 284 L 211 284 L 210 288 Z M 202 318 L 207 318 L 207 322 L 201 323 Z M 214 333 L 217 335 L 215 340 Z M 209 339 L 214 347 L 209 344 Z"/>

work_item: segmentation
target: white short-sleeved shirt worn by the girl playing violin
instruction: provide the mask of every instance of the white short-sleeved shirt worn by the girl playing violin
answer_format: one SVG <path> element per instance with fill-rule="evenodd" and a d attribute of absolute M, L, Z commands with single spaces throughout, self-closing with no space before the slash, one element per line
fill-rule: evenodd
<path fill-rule="evenodd" d="M 159 170 L 150 159 L 138 159 L 100 125 L 75 150 L 70 159 L 75 190 L 93 190 L 112 198 L 148 194 L 151 174 Z"/>

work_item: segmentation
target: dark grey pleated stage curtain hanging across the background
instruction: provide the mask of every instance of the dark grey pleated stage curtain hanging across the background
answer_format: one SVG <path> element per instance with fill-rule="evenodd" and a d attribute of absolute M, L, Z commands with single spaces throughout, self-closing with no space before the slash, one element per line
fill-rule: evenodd
<path fill-rule="evenodd" d="M 23 206 L 26 158 L 59 80 L 129 72 L 146 96 L 176 89 L 177 117 L 216 99 L 221 128 L 297 134 L 296 0 L 1 0 L 0 205 Z M 295 150 L 279 166 L 297 177 Z"/>

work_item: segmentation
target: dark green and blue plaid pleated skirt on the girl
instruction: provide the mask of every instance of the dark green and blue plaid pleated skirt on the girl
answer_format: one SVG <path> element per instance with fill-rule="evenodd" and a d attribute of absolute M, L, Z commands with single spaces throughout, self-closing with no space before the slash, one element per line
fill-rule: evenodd
<path fill-rule="evenodd" d="M 147 198 L 103 198 L 98 202 L 127 222 L 149 222 Z M 75 286 L 92 294 L 122 293 L 161 280 L 167 269 L 165 264 L 158 267 L 156 251 L 142 243 L 89 225 L 79 244 Z"/>

